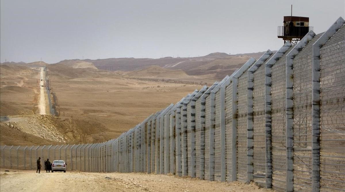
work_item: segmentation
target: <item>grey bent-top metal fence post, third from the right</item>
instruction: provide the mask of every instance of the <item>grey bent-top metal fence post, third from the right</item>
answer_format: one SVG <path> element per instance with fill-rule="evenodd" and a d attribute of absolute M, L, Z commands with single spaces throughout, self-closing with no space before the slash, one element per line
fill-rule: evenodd
<path fill-rule="evenodd" d="M 280 57 L 291 47 L 292 43 L 286 42 L 265 64 L 265 138 L 266 138 L 266 188 L 273 187 L 272 171 L 272 73 L 271 68 Z"/>

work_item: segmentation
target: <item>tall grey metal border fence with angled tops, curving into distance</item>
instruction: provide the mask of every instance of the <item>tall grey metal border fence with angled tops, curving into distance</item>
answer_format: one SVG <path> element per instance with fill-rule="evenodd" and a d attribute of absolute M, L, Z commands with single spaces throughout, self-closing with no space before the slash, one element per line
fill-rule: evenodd
<path fill-rule="evenodd" d="M 345 191 L 345 21 L 250 58 L 116 139 L 1 146 L 1 167 L 147 172 L 254 181 L 276 191 Z"/>

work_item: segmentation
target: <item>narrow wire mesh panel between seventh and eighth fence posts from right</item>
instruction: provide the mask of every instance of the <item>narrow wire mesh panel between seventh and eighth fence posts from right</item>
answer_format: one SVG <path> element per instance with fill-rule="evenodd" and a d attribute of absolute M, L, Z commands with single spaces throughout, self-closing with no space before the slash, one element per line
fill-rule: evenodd
<path fill-rule="evenodd" d="M 205 180 L 210 178 L 211 96 L 205 98 Z"/>

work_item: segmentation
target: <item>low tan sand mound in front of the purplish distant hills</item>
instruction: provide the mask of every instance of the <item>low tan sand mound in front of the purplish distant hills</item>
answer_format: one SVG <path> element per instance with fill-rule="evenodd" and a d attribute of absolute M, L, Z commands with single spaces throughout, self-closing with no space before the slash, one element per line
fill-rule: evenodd
<path fill-rule="evenodd" d="M 160 66 L 151 65 L 139 71 L 128 72 L 125 77 L 154 77 L 154 78 L 181 78 L 188 75 L 182 70 L 170 70 Z"/>

